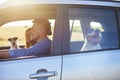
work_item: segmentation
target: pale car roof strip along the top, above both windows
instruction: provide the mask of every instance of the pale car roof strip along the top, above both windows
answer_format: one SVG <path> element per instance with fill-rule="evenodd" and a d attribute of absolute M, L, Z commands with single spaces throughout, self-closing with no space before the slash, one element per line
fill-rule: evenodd
<path fill-rule="evenodd" d="M 112 6 L 120 7 L 120 1 L 108 0 L 9 0 L 0 8 L 9 6 L 31 5 L 31 4 L 80 4 L 80 5 L 96 5 L 96 6 Z"/>

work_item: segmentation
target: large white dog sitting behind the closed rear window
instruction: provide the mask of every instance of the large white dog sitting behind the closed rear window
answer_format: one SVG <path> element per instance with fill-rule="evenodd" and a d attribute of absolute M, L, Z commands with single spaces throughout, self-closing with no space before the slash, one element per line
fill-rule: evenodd
<path fill-rule="evenodd" d="M 102 39 L 102 34 L 99 29 L 92 29 L 85 36 L 85 43 L 81 49 L 81 51 L 89 51 L 89 50 L 98 50 L 101 49 L 100 41 Z"/>

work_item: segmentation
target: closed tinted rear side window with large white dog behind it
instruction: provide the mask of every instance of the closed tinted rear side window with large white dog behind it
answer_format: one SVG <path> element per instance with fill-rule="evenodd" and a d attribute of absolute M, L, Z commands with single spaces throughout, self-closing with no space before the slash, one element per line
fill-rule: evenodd
<path fill-rule="evenodd" d="M 71 52 L 118 48 L 113 10 L 69 8 Z"/>

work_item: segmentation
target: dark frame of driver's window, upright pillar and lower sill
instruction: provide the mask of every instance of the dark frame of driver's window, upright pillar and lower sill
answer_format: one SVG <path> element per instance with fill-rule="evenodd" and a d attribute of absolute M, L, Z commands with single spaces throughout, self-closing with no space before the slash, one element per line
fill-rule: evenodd
<path fill-rule="evenodd" d="M 48 4 L 40 4 L 48 5 Z M 42 56 L 27 56 L 27 57 L 16 57 L 16 58 L 8 58 L 8 59 L 1 59 L 1 61 L 12 61 L 12 60 L 24 60 L 24 59 L 31 59 L 31 58 L 42 58 L 42 57 L 51 57 L 51 56 L 59 56 L 61 55 L 61 48 L 62 48 L 62 39 L 63 39 L 63 6 L 56 5 L 56 18 L 54 24 L 54 31 L 52 37 L 52 45 L 51 45 L 51 54 L 50 55 L 42 55 Z M 49 4 L 48 6 L 54 6 Z M 62 24 L 62 26 L 61 26 Z M 57 44 L 57 45 L 56 45 Z M 8 47 L 1 47 L 0 49 L 9 48 Z"/>

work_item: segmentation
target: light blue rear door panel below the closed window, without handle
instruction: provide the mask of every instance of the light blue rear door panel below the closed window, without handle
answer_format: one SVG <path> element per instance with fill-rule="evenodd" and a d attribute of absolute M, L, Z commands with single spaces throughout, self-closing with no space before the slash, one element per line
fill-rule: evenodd
<path fill-rule="evenodd" d="M 64 55 L 62 80 L 120 80 L 119 51 Z"/>

